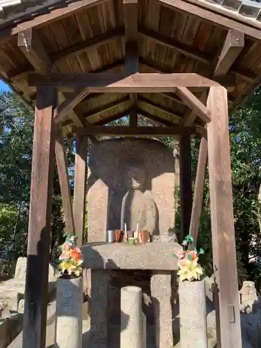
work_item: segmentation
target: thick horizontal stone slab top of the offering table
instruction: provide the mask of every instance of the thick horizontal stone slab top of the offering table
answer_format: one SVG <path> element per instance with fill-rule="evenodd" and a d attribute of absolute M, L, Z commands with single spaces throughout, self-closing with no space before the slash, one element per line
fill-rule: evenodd
<path fill-rule="evenodd" d="M 81 246 L 84 267 L 90 269 L 155 269 L 175 271 L 177 259 L 173 253 L 182 251 L 177 243 L 128 243 L 93 242 Z"/>

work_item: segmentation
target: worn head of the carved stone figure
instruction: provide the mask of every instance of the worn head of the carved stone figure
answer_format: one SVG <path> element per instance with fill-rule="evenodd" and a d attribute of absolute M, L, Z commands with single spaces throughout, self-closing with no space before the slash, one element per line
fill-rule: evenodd
<path fill-rule="evenodd" d="M 136 159 L 128 161 L 127 182 L 134 190 L 142 190 L 145 183 L 145 171 L 143 162 Z"/>

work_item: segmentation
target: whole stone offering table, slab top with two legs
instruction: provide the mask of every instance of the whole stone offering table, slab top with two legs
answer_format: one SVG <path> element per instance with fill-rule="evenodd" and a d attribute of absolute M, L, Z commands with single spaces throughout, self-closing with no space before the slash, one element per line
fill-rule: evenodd
<path fill-rule="evenodd" d="M 150 290 L 155 313 L 156 342 L 159 348 L 173 347 L 171 274 L 177 270 L 173 253 L 182 251 L 177 243 L 93 242 L 81 246 L 84 267 L 91 269 L 90 347 L 108 345 L 109 270 L 150 270 Z"/>

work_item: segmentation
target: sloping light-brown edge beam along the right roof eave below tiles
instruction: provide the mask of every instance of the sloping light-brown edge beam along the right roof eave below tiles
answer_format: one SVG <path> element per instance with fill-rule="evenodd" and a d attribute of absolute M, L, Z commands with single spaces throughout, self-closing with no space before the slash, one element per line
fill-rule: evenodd
<path fill-rule="evenodd" d="M 256 40 L 261 40 L 260 29 L 255 29 L 253 26 L 249 26 L 243 23 L 239 23 L 234 19 L 230 19 L 223 15 L 218 15 L 203 6 L 196 6 L 184 0 L 159 0 L 162 5 L 171 8 L 172 10 L 177 10 L 184 13 L 190 13 L 191 15 L 203 18 L 205 22 L 214 23 L 221 28 L 234 29 L 237 31 L 242 31 L 251 38 Z"/>

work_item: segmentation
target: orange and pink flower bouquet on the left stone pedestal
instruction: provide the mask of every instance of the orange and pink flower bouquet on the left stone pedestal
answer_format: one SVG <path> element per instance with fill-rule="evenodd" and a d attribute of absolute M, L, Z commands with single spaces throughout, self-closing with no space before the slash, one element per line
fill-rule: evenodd
<path fill-rule="evenodd" d="M 61 255 L 58 258 L 59 268 L 62 274 L 79 277 L 82 272 L 81 264 L 84 262 L 81 251 L 76 246 L 74 235 L 65 235 L 65 242 L 59 246 Z"/>

